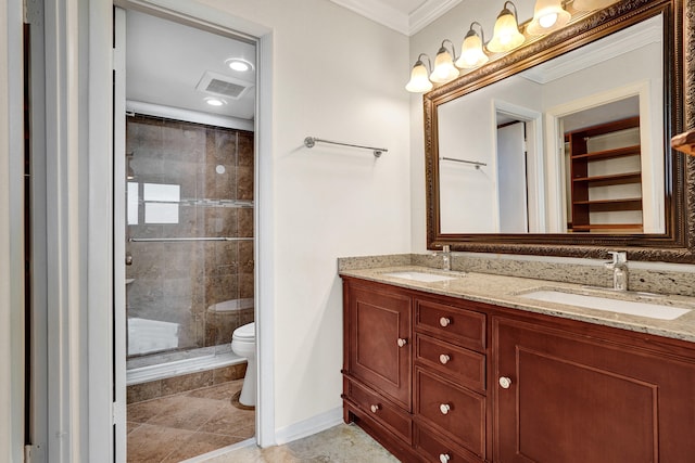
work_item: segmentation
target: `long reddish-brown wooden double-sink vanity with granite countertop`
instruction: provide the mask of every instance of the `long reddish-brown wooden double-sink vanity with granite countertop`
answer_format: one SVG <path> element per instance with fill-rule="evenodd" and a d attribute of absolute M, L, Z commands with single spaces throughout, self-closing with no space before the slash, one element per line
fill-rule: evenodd
<path fill-rule="evenodd" d="M 522 297 L 548 282 L 393 270 L 341 271 L 343 417 L 402 461 L 692 461 L 695 310 L 598 312 Z"/>

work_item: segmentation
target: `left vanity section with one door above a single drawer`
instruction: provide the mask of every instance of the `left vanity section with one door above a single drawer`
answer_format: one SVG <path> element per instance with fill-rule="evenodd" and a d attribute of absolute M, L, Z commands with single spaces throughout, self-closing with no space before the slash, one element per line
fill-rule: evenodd
<path fill-rule="evenodd" d="M 413 460 L 412 297 L 359 280 L 343 284 L 343 420 Z"/>

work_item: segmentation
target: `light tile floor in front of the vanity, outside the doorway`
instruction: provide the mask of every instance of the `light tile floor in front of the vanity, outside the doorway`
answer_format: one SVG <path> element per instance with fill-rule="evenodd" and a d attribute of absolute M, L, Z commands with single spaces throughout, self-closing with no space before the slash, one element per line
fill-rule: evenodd
<path fill-rule="evenodd" d="M 377 441 L 355 425 L 341 424 L 285 446 L 232 450 L 205 463 L 397 463 Z"/>

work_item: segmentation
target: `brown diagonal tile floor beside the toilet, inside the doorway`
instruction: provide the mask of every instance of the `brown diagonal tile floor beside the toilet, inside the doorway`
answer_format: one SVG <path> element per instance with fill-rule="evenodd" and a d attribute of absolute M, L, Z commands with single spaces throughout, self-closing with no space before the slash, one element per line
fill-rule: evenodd
<path fill-rule="evenodd" d="M 166 396 L 127 408 L 128 463 L 174 463 L 255 434 L 255 413 L 231 404 L 243 380 Z"/>

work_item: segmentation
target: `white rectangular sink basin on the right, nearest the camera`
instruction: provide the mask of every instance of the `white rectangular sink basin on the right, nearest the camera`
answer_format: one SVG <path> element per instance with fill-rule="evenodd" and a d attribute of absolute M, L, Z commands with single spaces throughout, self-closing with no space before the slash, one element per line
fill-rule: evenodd
<path fill-rule="evenodd" d="M 527 299 L 544 300 L 546 303 L 564 304 L 566 306 L 584 307 L 595 310 L 606 310 L 609 312 L 628 313 L 631 316 L 647 317 L 657 320 L 675 320 L 691 311 L 691 309 L 682 309 L 680 307 L 665 306 L 661 304 L 587 296 L 584 294 L 565 293 L 553 290 L 534 291 L 519 296 Z"/>

